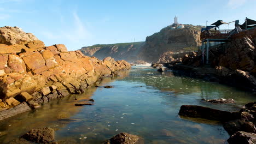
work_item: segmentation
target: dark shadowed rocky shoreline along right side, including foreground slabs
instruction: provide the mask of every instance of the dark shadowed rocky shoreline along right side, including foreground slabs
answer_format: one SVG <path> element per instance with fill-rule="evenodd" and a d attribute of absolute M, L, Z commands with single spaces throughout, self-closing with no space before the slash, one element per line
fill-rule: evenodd
<path fill-rule="evenodd" d="M 202 64 L 202 53 L 199 51 L 190 52 L 177 59 L 171 57 L 172 53 L 163 55 L 158 63 L 152 64 L 152 67 L 161 68 L 161 65 L 164 65 L 171 69 L 174 75 L 219 82 L 244 91 L 255 92 L 255 42 L 255 39 L 244 37 L 212 46 L 208 65 Z M 234 100 L 231 99 L 230 102 L 234 103 Z M 228 139 L 230 144 L 256 143 L 255 106 L 256 102 L 249 103 L 238 112 L 228 112 L 197 105 L 182 105 L 179 115 L 222 122 L 224 129 L 230 134 Z"/>

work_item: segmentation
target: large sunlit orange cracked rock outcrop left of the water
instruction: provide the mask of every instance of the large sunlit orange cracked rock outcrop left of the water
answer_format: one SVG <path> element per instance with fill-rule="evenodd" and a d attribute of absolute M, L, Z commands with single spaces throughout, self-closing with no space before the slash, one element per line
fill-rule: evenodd
<path fill-rule="evenodd" d="M 18 27 L 1 27 L 0 43 L 0 120 L 51 99 L 83 93 L 100 77 L 131 67 L 111 57 L 100 61 L 67 51 L 62 44 L 44 46 Z"/>

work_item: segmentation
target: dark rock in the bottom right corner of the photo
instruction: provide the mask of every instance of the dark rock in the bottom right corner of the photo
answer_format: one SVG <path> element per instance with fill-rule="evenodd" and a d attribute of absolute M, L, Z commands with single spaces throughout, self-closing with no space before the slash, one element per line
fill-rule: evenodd
<path fill-rule="evenodd" d="M 256 134 L 237 131 L 234 135 L 229 137 L 228 142 L 230 144 L 255 144 Z"/>

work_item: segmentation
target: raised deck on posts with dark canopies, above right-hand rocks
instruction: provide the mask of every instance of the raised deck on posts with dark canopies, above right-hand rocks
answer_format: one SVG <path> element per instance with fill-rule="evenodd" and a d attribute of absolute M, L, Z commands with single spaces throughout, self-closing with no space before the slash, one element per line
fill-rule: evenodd
<path fill-rule="evenodd" d="M 201 51 L 202 51 L 202 63 L 209 63 L 209 49 L 213 45 L 226 43 L 230 40 L 243 38 L 246 36 L 251 37 L 252 39 L 256 38 L 256 21 L 247 19 L 240 25 L 239 20 L 232 21 L 235 22 L 234 29 L 219 29 L 220 25 L 226 25 L 231 22 L 224 22 L 218 20 L 212 23 L 211 26 L 206 26 L 201 29 L 200 39 L 202 41 Z M 206 57 L 206 58 L 205 58 Z"/>

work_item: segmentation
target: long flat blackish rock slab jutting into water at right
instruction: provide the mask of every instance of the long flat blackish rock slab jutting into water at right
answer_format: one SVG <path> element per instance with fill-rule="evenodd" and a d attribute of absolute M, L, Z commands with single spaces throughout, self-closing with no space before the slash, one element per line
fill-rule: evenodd
<path fill-rule="evenodd" d="M 182 105 L 179 115 L 186 117 L 204 118 L 220 122 L 228 122 L 238 119 L 238 112 L 220 111 L 209 107 L 197 105 Z"/>

